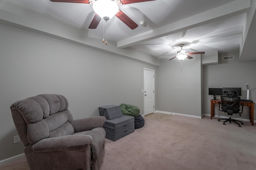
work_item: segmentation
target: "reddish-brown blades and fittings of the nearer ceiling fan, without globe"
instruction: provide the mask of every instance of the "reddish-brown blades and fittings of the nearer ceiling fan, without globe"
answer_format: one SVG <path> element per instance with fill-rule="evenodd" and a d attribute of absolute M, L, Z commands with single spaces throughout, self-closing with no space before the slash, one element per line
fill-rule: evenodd
<path fill-rule="evenodd" d="M 70 2 L 70 3 L 81 3 L 81 4 L 94 4 L 95 2 L 98 3 L 99 1 L 102 0 L 50 0 L 52 2 Z M 98 1 L 98 2 L 97 2 Z M 124 5 L 124 4 L 133 4 L 133 3 L 138 3 L 138 2 L 147 2 L 147 1 L 152 1 L 152 0 L 104 0 L 106 1 L 111 1 L 115 2 L 117 5 Z M 95 4 L 96 4 L 95 3 Z M 105 7 L 106 9 L 107 7 Z M 118 7 L 117 7 L 118 8 Z M 95 11 L 95 10 L 94 10 Z M 119 18 L 121 21 L 123 21 L 130 29 L 135 29 L 138 27 L 138 24 L 136 24 L 131 18 L 129 18 L 124 12 L 118 9 L 117 13 L 114 14 L 117 18 Z M 100 20 L 104 19 L 105 21 L 109 20 L 109 17 L 100 17 L 99 14 L 95 14 L 94 18 L 92 19 L 89 28 L 90 29 L 96 29 L 98 24 L 100 23 Z"/>

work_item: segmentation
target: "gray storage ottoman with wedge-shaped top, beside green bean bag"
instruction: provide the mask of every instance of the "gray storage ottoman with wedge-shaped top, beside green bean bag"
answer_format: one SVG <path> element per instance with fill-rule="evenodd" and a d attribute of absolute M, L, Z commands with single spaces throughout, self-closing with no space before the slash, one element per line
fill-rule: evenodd
<path fill-rule="evenodd" d="M 102 106 L 99 111 L 101 116 L 106 117 L 103 128 L 107 139 L 116 141 L 134 132 L 134 117 L 123 115 L 120 106 Z"/>

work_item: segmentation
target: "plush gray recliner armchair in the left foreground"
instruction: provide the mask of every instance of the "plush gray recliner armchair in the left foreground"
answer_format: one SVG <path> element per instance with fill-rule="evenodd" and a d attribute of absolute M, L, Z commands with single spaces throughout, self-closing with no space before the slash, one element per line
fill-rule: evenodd
<path fill-rule="evenodd" d="M 105 148 L 105 117 L 73 120 L 67 99 L 57 94 L 20 100 L 10 109 L 31 170 L 99 168 Z"/>

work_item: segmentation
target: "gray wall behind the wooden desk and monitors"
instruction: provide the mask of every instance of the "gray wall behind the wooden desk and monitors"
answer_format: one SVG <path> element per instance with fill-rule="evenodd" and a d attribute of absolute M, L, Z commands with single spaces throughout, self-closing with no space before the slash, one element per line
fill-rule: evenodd
<path fill-rule="evenodd" d="M 234 55 L 234 60 L 222 61 L 222 57 Z M 219 54 L 219 64 L 206 65 L 204 66 L 204 94 L 203 94 L 203 112 L 204 114 L 210 115 L 210 100 L 213 98 L 212 95 L 208 95 L 208 88 L 223 88 L 223 87 L 241 87 L 242 97 L 246 99 L 248 83 L 250 88 L 250 99 L 256 101 L 256 61 L 243 61 L 238 60 L 239 52 L 233 53 L 221 53 Z M 220 99 L 220 96 L 217 96 Z M 255 107 L 254 107 L 255 108 Z M 224 112 L 218 110 L 218 104 L 215 104 L 215 115 L 226 116 Z M 254 109 L 254 119 L 256 111 Z M 249 119 L 249 108 L 244 107 L 244 113 L 240 117 L 242 119 Z"/>

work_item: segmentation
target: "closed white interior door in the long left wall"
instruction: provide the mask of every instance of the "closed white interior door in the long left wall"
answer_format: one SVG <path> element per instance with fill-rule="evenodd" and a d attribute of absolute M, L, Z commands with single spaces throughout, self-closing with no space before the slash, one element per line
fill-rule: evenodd
<path fill-rule="evenodd" d="M 144 115 L 153 113 L 155 110 L 155 71 L 144 68 Z"/>

